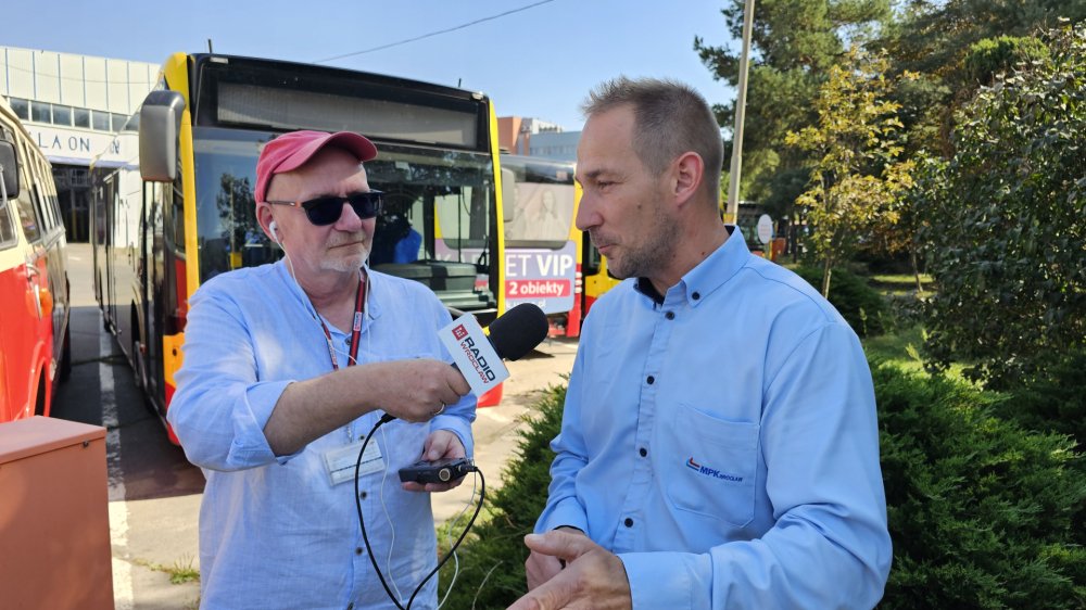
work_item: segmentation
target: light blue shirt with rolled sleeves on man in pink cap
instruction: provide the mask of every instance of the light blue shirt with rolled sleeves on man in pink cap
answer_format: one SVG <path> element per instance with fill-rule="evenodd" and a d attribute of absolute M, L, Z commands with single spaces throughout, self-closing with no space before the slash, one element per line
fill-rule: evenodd
<path fill-rule="evenodd" d="M 358 364 L 404 358 L 452 361 L 437 330 L 451 321 L 420 283 L 375 271 Z M 280 260 L 215 277 L 191 298 L 184 366 L 167 420 L 189 460 L 207 478 L 200 509 L 201 608 L 206 610 L 394 608 L 365 551 L 354 483 L 330 486 L 321 453 L 348 444 L 348 428 L 276 458 L 264 424 L 291 381 L 332 370 L 316 312 Z M 349 335 L 326 323 L 337 350 Z M 337 354 L 340 366 L 346 356 Z M 374 435 L 389 465 L 364 475 L 366 532 L 384 573 L 411 593 L 437 564 L 430 495 L 401 490 L 397 471 L 420 457 L 433 430 L 455 432 L 471 455 L 476 401 L 468 395 L 430 423 L 394 420 Z M 350 425 L 358 440 L 380 412 Z M 391 587 L 391 583 L 390 583 Z M 437 605 L 437 576 L 416 608 Z"/>

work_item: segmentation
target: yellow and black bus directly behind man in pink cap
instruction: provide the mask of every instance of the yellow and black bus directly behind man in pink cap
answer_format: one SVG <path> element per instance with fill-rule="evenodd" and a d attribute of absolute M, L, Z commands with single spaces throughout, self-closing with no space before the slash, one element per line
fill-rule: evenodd
<path fill-rule="evenodd" d="M 428 284 L 489 323 L 505 308 L 494 109 L 482 93 L 312 64 L 171 55 L 91 167 L 94 287 L 165 422 L 181 366 L 188 298 L 218 274 L 277 260 L 252 189 L 265 143 L 299 129 L 355 131 L 384 191 L 370 266 Z M 171 432 L 171 440 L 177 442 Z"/>

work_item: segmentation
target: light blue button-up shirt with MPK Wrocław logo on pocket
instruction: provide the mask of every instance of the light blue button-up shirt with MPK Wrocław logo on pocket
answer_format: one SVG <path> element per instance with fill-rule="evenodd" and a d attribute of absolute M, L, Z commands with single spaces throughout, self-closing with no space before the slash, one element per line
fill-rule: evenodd
<path fill-rule="evenodd" d="M 856 334 L 738 231 L 662 305 L 636 287 L 582 327 L 535 531 L 617 554 L 635 610 L 872 608 L 892 552 Z"/>

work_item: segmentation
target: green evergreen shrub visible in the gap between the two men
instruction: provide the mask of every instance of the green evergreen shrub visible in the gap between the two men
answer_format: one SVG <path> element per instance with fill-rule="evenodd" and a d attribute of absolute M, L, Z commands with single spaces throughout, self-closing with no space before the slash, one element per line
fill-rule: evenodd
<path fill-rule="evenodd" d="M 565 385 L 548 387 L 533 405 L 534 412 L 527 418 L 529 425 L 517 431 L 517 455 L 502 472 L 502 487 L 487 495 L 489 518 L 476 523 L 457 550 L 460 572 L 444 608 L 504 610 L 528 593 L 528 547 L 523 538 L 535 529 L 535 519 L 546 507 L 555 457 L 551 441 L 561 431 L 565 402 Z M 445 528 L 439 529 L 438 539 L 445 541 Z M 439 600 L 445 595 L 453 569 L 450 560 L 441 570 Z"/>

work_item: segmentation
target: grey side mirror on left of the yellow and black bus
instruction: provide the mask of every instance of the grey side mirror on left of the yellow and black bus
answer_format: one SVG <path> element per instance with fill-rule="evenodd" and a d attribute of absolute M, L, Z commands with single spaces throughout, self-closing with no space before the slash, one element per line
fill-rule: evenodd
<path fill-rule="evenodd" d="M 177 178 L 177 137 L 185 97 L 177 91 L 151 91 L 139 115 L 139 173 L 144 182 Z"/>

